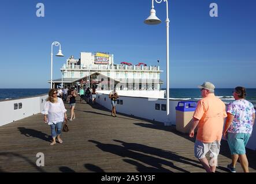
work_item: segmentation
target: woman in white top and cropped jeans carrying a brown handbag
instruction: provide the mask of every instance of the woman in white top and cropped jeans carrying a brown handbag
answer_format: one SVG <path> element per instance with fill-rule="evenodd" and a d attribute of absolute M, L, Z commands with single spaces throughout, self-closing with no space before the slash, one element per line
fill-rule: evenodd
<path fill-rule="evenodd" d="M 57 97 L 57 93 L 57 89 L 51 89 L 49 91 L 49 97 L 46 99 L 46 103 L 42 111 L 42 114 L 44 114 L 44 122 L 48 122 L 48 125 L 51 126 L 51 136 L 53 137 L 53 142 L 50 145 L 56 144 L 56 136 L 57 141 L 59 143 L 63 143 L 60 138 L 62 123 L 64 120 L 67 120 L 64 103 L 61 98 Z M 55 131 L 56 127 L 57 132 Z"/>

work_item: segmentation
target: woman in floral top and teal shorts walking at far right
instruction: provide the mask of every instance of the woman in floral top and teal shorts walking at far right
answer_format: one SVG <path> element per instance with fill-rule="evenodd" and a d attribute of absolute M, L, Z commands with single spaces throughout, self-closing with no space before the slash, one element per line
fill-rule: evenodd
<path fill-rule="evenodd" d="M 236 87 L 233 90 L 233 97 L 235 101 L 228 105 L 228 117 L 223 132 L 224 137 L 227 137 L 232 158 L 232 163 L 227 167 L 232 173 L 236 173 L 236 162 L 239 159 L 244 173 L 248 173 L 245 147 L 253 132 L 255 110 L 253 104 L 244 99 L 246 97 L 244 87 Z"/>

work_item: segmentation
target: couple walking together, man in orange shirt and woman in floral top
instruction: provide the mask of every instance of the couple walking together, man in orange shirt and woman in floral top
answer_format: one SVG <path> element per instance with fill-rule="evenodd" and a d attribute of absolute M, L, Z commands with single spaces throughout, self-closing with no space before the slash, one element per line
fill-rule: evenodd
<path fill-rule="evenodd" d="M 214 173 L 223 135 L 227 138 L 232 158 L 232 163 L 228 164 L 227 168 L 236 173 L 236 162 L 239 159 L 243 171 L 248 173 L 246 144 L 253 131 L 255 109 L 253 104 L 245 99 L 246 89 L 235 87 L 232 91 L 235 101 L 228 105 L 226 111 L 224 102 L 214 95 L 215 86 L 212 83 L 204 82 L 198 87 L 203 98 L 196 106 L 194 123 L 189 133 L 190 137 L 194 137 L 195 128 L 198 127 L 194 145 L 195 157 L 207 173 Z M 207 152 L 210 152 L 210 162 L 206 158 Z"/>

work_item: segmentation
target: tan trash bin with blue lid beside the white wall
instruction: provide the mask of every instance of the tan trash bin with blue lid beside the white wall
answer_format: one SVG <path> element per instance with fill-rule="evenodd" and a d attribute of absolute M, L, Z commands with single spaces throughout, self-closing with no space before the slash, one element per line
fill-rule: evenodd
<path fill-rule="evenodd" d="M 194 101 L 180 101 L 176 106 L 176 130 L 182 133 L 190 132 L 193 115 L 196 109 Z"/>

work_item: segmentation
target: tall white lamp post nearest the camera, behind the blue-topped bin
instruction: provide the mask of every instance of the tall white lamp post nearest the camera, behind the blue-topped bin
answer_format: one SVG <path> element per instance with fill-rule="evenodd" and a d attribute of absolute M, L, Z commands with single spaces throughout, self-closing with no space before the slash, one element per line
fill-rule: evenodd
<path fill-rule="evenodd" d="M 168 18 L 168 0 L 160 0 L 155 2 L 166 2 L 166 113 L 169 114 L 169 18 Z M 152 9 L 150 10 L 150 16 L 144 21 L 145 24 L 156 25 L 160 24 L 161 20 L 155 16 L 154 0 L 152 0 Z"/>

